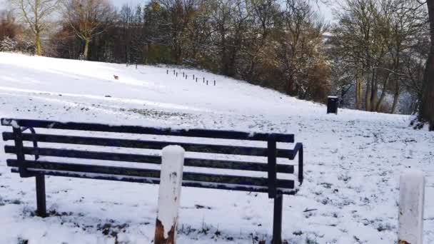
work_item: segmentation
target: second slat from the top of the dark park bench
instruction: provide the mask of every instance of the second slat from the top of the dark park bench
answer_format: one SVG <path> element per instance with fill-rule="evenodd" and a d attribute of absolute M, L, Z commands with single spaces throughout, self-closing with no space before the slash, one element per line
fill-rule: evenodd
<path fill-rule="evenodd" d="M 14 140 L 14 133 L 4 132 L 4 141 Z M 128 140 L 117 138 L 99 138 L 99 137 L 86 137 L 86 136 L 58 136 L 49 134 L 31 134 L 23 133 L 23 141 L 38 141 L 41 143 L 64 143 L 64 144 L 77 144 L 77 145 L 91 145 L 91 146 L 111 146 L 121 148 L 143 148 L 143 149 L 157 149 L 161 150 L 165 146 L 176 144 L 181 146 L 186 151 L 201 152 L 201 153 L 221 153 L 233 155 L 246 155 L 246 156 L 263 156 L 268 154 L 267 148 L 256 148 L 248 146 L 227 146 L 227 145 L 207 145 L 200 143 L 182 143 L 171 141 L 141 141 L 141 140 Z M 292 150 L 278 149 L 278 158 L 291 158 L 293 155 Z"/>

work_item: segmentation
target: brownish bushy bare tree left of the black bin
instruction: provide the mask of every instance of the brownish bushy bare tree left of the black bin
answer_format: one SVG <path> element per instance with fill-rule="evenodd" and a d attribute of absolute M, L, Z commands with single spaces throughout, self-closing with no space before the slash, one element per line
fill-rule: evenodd
<path fill-rule="evenodd" d="M 313 77 L 309 71 L 323 61 L 319 47 L 325 29 L 321 22 L 316 22 L 306 0 L 287 0 L 281 25 L 276 55 L 284 73 L 285 90 L 292 96 L 303 98 Z"/>

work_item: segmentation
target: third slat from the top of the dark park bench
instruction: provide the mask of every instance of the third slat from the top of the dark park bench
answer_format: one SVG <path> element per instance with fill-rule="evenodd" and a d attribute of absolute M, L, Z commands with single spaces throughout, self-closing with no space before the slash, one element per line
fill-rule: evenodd
<path fill-rule="evenodd" d="M 6 153 L 16 153 L 16 148 L 14 146 L 4 146 L 4 151 Z M 131 153 L 109 153 L 95 151 L 79 151 L 72 149 L 30 147 L 24 147 L 23 151 L 27 155 L 161 164 L 161 156 L 156 155 L 153 156 Z M 241 171 L 268 171 L 268 166 L 266 163 L 251 163 L 243 161 L 226 161 L 202 158 L 185 158 L 184 166 L 202 168 L 227 168 Z M 294 173 L 294 166 L 278 164 L 278 173 Z"/>

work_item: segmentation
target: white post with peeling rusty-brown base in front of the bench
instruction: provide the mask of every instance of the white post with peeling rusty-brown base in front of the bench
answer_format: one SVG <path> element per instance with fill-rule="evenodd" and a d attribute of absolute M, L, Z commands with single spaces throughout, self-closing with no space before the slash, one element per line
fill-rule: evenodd
<path fill-rule="evenodd" d="M 185 151 L 166 146 L 161 157 L 155 244 L 175 244 Z"/>

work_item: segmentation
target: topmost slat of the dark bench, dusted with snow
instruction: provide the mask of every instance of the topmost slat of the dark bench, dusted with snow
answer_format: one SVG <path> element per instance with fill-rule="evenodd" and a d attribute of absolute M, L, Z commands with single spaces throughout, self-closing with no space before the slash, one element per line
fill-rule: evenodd
<path fill-rule="evenodd" d="M 71 131 L 101 131 L 101 132 L 115 132 L 115 133 L 135 133 L 135 134 L 149 134 L 149 135 L 161 135 L 161 136 L 188 136 L 198 138 L 221 138 L 221 139 L 233 139 L 233 140 L 249 140 L 249 141 L 267 141 L 270 135 L 276 138 L 278 142 L 293 143 L 293 134 L 282 133 L 247 133 L 241 131 L 213 131 L 202 129 L 191 130 L 177 130 L 171 128 L 150 128 L 142 126 L 109 126 L 99 123 L 75 123 L 66 122 L 61 123 L 59 121 L 39 121 L 39 120 L 27 120 L 27 119 L 12 119 L 2 118 L 2 126 L 12 126 L 16 123 L 21 127 L 32 128 L 52 128 L 52 129 L 64 129 Z"/>

